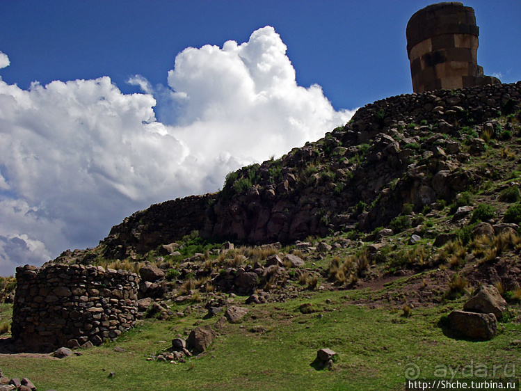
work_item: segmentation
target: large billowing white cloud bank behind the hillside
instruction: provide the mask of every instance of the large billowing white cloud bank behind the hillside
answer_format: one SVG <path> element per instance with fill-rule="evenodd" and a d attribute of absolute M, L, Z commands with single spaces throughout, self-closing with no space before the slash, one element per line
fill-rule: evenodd
<path fill-rule="evenodd" d="M 216 191 L 231 170 L 344 124 L 352 112 L 298 86 L 286 49 L 270 26 L 189 47 L 168 86 L 129 80 L 143 94 L 109 77 L 28 90 L 0 78 L 0 275 L 95 246 L 138 209 Z"/>

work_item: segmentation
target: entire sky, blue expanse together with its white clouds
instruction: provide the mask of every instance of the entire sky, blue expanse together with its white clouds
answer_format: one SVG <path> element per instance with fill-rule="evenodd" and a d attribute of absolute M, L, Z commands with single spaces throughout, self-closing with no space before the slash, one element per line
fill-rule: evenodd
<path fill-rule="evenodd" d="M 0 1 L 0 275 L 412 92 L 430 1 Z M 521 79 L 521 2 L 465 2 Z M 191 48 L 191 49 L 190 49 Z"/>

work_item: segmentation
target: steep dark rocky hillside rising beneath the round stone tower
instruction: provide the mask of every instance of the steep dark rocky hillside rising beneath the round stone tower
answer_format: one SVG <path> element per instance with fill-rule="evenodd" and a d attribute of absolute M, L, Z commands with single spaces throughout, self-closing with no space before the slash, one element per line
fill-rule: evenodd
<path fill-rule="evenodd" d="M 518 169 L 520 100 L 518 82 L 368 104 L 321 140 L 230 173 L 218 193 L 152 205 L 115 225 L 94 251 L 65 252 L 56 261 L 135 259 L 194 230 L 244 244 L 371 232 L 404 205 L 418 213 L 508 179 Z M 490 148 L 502 150 L 504 164 L 476 164 Z"/>

